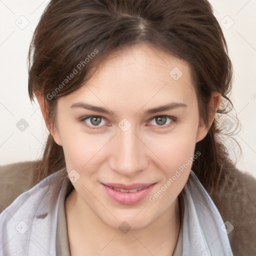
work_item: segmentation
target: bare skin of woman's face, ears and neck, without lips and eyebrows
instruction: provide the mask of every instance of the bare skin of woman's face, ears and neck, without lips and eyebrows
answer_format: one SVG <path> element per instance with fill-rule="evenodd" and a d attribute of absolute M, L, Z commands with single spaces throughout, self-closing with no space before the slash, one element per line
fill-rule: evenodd
<path fill-rule="evenodd" d="M 183 73 L 176 81 L 169 75 L 174 67 Z M 86 84 L 59 98 L 56 127 L 50 127 L 42 95 L 36 92 L 36 97 L 49 131 L 63 147 L 67 172 L 75 169 L 80 175 L 65 200 L 71 255 L 172 255 L 180 224 L 177 196 L 192 164 L 154 202 L 146 196 L 132 205 L 120 204 L 108 197 L 100 182 L 157 182 L 149 194 L 153 195 L 194 155 L 196 142 L 212 123 L 220 94 L 212 93 L 209 126 L 199 126 L 188 64 L 137 44 L 109 56 Z M 76 102 L 105 107 L 113 114 L 70 107 Z M 170 102 L 187 106 L 146 113 Z M 103 118 L 98 126 L 89 118 L 79 122 L 88 115 Z M 157 115 L 164 115 L 165 123 L 161 125 Z M 131 124 L 126 131 L 118 127 L 123 118 Z M 123 221 L 131 227 L 125 234 L 118 229 Z"/>

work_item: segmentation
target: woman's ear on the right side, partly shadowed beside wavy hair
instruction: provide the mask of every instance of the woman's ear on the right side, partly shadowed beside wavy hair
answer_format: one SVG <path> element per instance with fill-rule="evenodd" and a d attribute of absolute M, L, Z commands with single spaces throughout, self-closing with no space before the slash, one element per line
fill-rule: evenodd
<path fill-rule="evenodd" d="M 196 142 L 202 140 L 206 136 L 206 134 L 207 134 L 212 122 L 213 122 L 215 113 L 216 113 L 216 111 L 218 109 L 218 106 L 220 104 L 220 100 L 221 100 L 221 94 L 217 91 L 212 91 L 210 102 L 209 102 L 209 107 L 208 107 L 208 116 L 207 116 L 207 119 L 208 119 L 207 124 L 208 125 L 205 124 L 205 123 L 202 123 L 198 127 L 197 134 L 196 134 Z"/>

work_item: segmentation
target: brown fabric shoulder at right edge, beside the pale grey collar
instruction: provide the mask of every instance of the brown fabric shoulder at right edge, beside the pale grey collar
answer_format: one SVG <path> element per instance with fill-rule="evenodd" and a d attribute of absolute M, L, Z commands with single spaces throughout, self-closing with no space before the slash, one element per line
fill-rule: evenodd
<path fill-rule="evenodd" d="M 210 192 L 226 225 L 235 255 L 256 254 L 256 179 L 230 164 L 225 179 Z"/>

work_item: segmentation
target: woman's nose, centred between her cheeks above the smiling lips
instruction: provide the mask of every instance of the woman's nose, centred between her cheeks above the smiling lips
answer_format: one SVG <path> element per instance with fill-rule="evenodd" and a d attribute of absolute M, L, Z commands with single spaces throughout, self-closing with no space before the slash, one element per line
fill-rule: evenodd
<path fill-rule="evenodd" d="M 131 126 L 128 130 L 117 129 L 111 144 L 110 168 L 122 176 L 136 175 L 148 164 L 147 147 Z"/>

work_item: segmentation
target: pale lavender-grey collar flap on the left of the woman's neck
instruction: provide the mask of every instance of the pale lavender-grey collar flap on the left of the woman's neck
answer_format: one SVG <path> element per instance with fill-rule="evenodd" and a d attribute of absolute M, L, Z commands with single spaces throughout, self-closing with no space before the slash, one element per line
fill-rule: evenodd
<path fill-rule="evenodd" d="M 42 244 L 53 255 L 62 177 L 65 173 L 61 170 L 45 177 L 0 213 L 0 248 L 4 255 L 42 255 Z M 52 239 L 45 239 L 48 236 Z"/>

